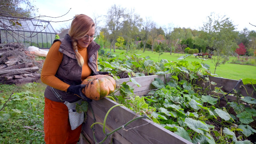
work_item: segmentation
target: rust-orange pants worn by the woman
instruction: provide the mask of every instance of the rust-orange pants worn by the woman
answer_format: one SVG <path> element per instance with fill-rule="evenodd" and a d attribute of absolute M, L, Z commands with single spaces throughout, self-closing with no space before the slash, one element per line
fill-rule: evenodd
<path fill-rule="evenodd" d="M 82 130 L 82 124 L 74 130 L 68 118 L 68 107 L 44 98 L 44 133 L 46 144 L 76 144 Z"/>

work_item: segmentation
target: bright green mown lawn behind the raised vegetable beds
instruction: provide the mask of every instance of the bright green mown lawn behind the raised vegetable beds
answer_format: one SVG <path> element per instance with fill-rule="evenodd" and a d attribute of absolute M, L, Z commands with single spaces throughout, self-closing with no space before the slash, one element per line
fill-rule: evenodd
<path fill-rule="evenodd" d="M 125 50 L 115 50 L 116 52 L 113 52 L 113 54 L 119 55 L 119 57 L 122 57 L 120 55 L 121 52 L 126 52 Z M 159 57 L 159 53 L 157 52 L 151 52 L 151 51 L 134 51 L 136 54 L 140 54 L 142 57 L 149 56 L 150 60 L 154 60 L 155 62 L 158 62 L 158 59 L 167 59 L 170 61 L 179 61 L 177 60 L 180 56 L 186 55 L 186 54 L 174 54 L 170 55 L 170 53 L 163 53 Z M 128 52 L 128 54 L 130 54 Z M 230 60 L 228 62 L 231 62 L 232 59 L 236 59 L 234 57 L 230 57 Z M 192 62 L 192 61 L 198 61 L 201 63 L 201 60 L 198 58 L 195 58 L 195 56 L 190 56 L 186 58 L 187 61 Z M 231 63 L 226 63 L 225 65 L 220 65 L 219 67 L 216 68 L 215 74 L 218 75 L 218 77 L 222 78 L 227 78 L 227 79 L 234 79 L 234 80 L 239 80 L 239 79 L 245 79 L 245 78 L 253 78 L 256 79 L 256 66 L 251 66 L 251 65 L 240 65 L 240 64 L 231 64 Z M 212 63 L 212 60 L 209 59 L 207 61 L 203 61 L 203 63 L 206 63 L 210 65 L 210 71 L 213 74 L 214 73 L 214 63 Z"/>

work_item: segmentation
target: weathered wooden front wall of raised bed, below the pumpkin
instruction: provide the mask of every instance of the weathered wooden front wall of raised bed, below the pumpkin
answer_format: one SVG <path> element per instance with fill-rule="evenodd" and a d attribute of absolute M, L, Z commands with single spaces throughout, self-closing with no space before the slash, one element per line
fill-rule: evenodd
<path fill-rule="evenodd" d="M 96 120 L 99 122 L 103 122 L 103 119 L 112 106 L 117 103 L 113 102 L 108 98 L 103 98 L 99 101 L 93 101 L 90 103 Z M 87 112 L 89 114 L 89 112 Z M 115 107 L 108 115 L 106 124 L 110 129 L 116 129 L 119 126 L 126 124 L 128 121 L 132 120 L 135 117 L 135 113 L 126 107 Z M 88 126 L 91 126 L 91 116 L 88 115 L 87 124 L 83 125 L 83 131 L 90 135 L 92 132 Z M 100 120 L 99 120 L 100 119 Z M 95 128 L 96 129 L 96 128 Z M 161 127 L 160 125 L 148 120 L 148 119 L 139 119 L 132 123 L 130 123 L 126 128 L 126 130 L 118 130 L 114 133 L 113 143 L 147 143 L 147 144 L 166 144 L 166 143 L 179 143 L 179 144 L 187 144 L 189 141 L 184 138 L 172 133 L 171 131 Z M 96 137 L 100 136 L 100 131 L 102 129 L 96 129 L 99 131 Z M 117 135 L 118 134 L 118 135 Z M 90 136 L 91 137 L 91 136 Z"/>

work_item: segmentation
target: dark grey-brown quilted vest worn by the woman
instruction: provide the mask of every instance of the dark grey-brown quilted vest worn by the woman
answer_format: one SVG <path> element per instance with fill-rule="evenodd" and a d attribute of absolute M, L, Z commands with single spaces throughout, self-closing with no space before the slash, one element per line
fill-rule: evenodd
<path fill-rule="evenodd" d="M 61 41 L 59 52 L 63 53 L 63 58 L 55 76 L 69 85 L 81 84 L 82 68 L 77 64 L 77 59 L 71 44 L 72 40 L 70 36 L 67 34 L 65 38 L 54 40 L 54 42 L 56 41 Z M 87 47 L 88 65 L 92 69 L 92 72 L 97 71 L 97 51 L 99 50 L 99 48 L 100 45 L 98 45 L 94 41 L 92 41 Z M 74 94 L 66 93 L 65 91 L 61 90 L 57 91 L 60 95 L 62 95 L 63 100 L 66 100 L 70 103 L 78 101 L 80 99 Z M 50 86 L 46 87 L 44 96 L 52 101 L 61 102 L 53 94 Z"/>

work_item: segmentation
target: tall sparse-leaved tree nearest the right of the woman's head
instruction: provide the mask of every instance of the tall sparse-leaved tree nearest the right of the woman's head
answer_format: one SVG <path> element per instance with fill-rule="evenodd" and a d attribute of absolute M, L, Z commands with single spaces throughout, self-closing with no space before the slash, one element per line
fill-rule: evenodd
<path fill-rule="evenodd" d="M 125 17 L 125 8 L 122 8 L 120 5 L 112 5 L 111 8 L 108 9 L 107 15 L 105 16 L 106 19 L 106 27 L 111 33 L 111 45 L 113 45 L 113 50 L 115 52 L 115 43 L 116 38 L 120 34 L 120 29 Z M 110 51 L 111 51 L 110 45 Z"/>

